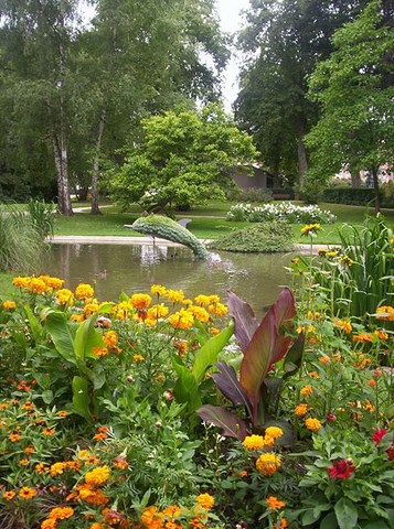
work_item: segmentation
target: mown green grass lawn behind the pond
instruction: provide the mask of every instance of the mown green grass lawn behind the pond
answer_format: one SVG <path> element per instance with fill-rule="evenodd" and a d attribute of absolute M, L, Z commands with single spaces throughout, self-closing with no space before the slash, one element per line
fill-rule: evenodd
<path fill-rule="evenodd" d="M 225 219 L 225 215 L 234 203 L 213 202 L 205 206 L 193 208 L 191 212 L 178 212 L 177 218 L 191 218 L 189 229 L 198 238 L 214 239 L 232 229 L 238 229 L 249 226 L 248 223 L 232 223 Z M 301 203 L 298 203 L 301 204 Z M 361 226 L 365 215 L 373 214 L 371 208 L 361 206 L 343 206 L 339 204 L 320 204 L 322 209 L 329 209 L 337 215 L 338 222 L 331 225 L 322 225 L 322 230 L 313 240 L 317 245 L 340 242 L 339 230 L 351 231 L 351 228 L 344 224 Z M 394 209 L 383 210 L 387 225 L 394 229 Z M 89 213 L 76 213 L 72 217 L 58 216 L 55 224 L 55 235 L 93 235 L 93 236 L 140 236 L 137 231 L 125 228 L 125 224 L 132 224 L 140 215 L 139 206 L 134 206 L 128 213 L 120 213 L 117 207 L 110 206 L 103 208 L 102 215 L 90 215 Z M 294 225 L 297 242 L 308 244 L 309 239 L 301 237 L 300 230 L 304 225 Z"/>

